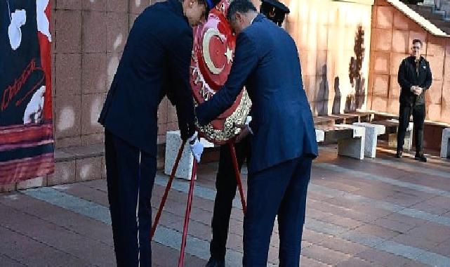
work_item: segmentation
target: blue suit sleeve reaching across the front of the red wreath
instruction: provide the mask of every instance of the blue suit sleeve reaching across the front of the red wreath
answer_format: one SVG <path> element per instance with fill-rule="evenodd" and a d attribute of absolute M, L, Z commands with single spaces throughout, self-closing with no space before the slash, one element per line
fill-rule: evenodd
<path fill-rule="evenodd" d="M 253 41 L 242 32 L 237 37 L 234 63 L 225 85 L 213 98 L 195 110 L 200 125 L 209 124 L 218 115 L 230 108 L 241 92 L 244 83 L 258 64 L 258 54 Z"/>

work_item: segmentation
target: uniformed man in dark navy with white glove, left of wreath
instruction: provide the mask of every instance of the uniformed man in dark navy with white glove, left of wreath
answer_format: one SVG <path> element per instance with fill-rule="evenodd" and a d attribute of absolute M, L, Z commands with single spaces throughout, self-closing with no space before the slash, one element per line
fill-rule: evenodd
<path fill-rule="evenodd" d="M 136 18 L 99 122 L 114 251 L 118 266 L 151 266 L 150 198 L 157 171 L 157 110 L 167 95 L 176 105 L 181 137 L 199 161 L 189 67 L 192 26 L 217 0 L 168 0 Z"/>

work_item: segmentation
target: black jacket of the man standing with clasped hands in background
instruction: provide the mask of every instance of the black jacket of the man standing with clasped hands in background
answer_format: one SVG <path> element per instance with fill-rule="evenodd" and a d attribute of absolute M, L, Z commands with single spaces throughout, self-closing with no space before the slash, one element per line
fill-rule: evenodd
<path fill-rule="evenodd" d="M 399 99 L 402 105 L 425 104 L 425 91 L 430 88 L 432 82 L 430 63 L 421 57 L 418 61 L 418 71 L 416 67 L 416 57 L 413 56 L 405 58 L 400 64 L 397 79 L 402 87 Z M 416 96 L 411 92 L 411 86 L 420 86 L 423 88 L 423 92 Z"/>

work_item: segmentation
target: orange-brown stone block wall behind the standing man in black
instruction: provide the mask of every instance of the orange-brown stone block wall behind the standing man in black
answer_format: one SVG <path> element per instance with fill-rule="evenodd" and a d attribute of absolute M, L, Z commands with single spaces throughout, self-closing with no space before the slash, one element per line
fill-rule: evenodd
<path fill-rule="evenodd" d="M 411 41 L 421 39 L 433 77 L 425 93 L 426 119 L 450 123 L 450 38 L 433 36 L 384 0 L 375 1 L 372 21 L 368 108 L 398 115 L 398 68 Z"/>

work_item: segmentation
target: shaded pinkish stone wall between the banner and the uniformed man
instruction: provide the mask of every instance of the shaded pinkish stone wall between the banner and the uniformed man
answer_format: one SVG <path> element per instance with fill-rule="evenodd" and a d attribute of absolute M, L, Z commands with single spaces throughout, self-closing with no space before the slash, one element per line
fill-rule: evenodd
<path fill-rule="evenodd" d="M 98 115 L 133 21 L 154 0 L 54 0 L 56 148 L 102 143 Z M 161 103 L 161 133 L 172 122 Z"/>

